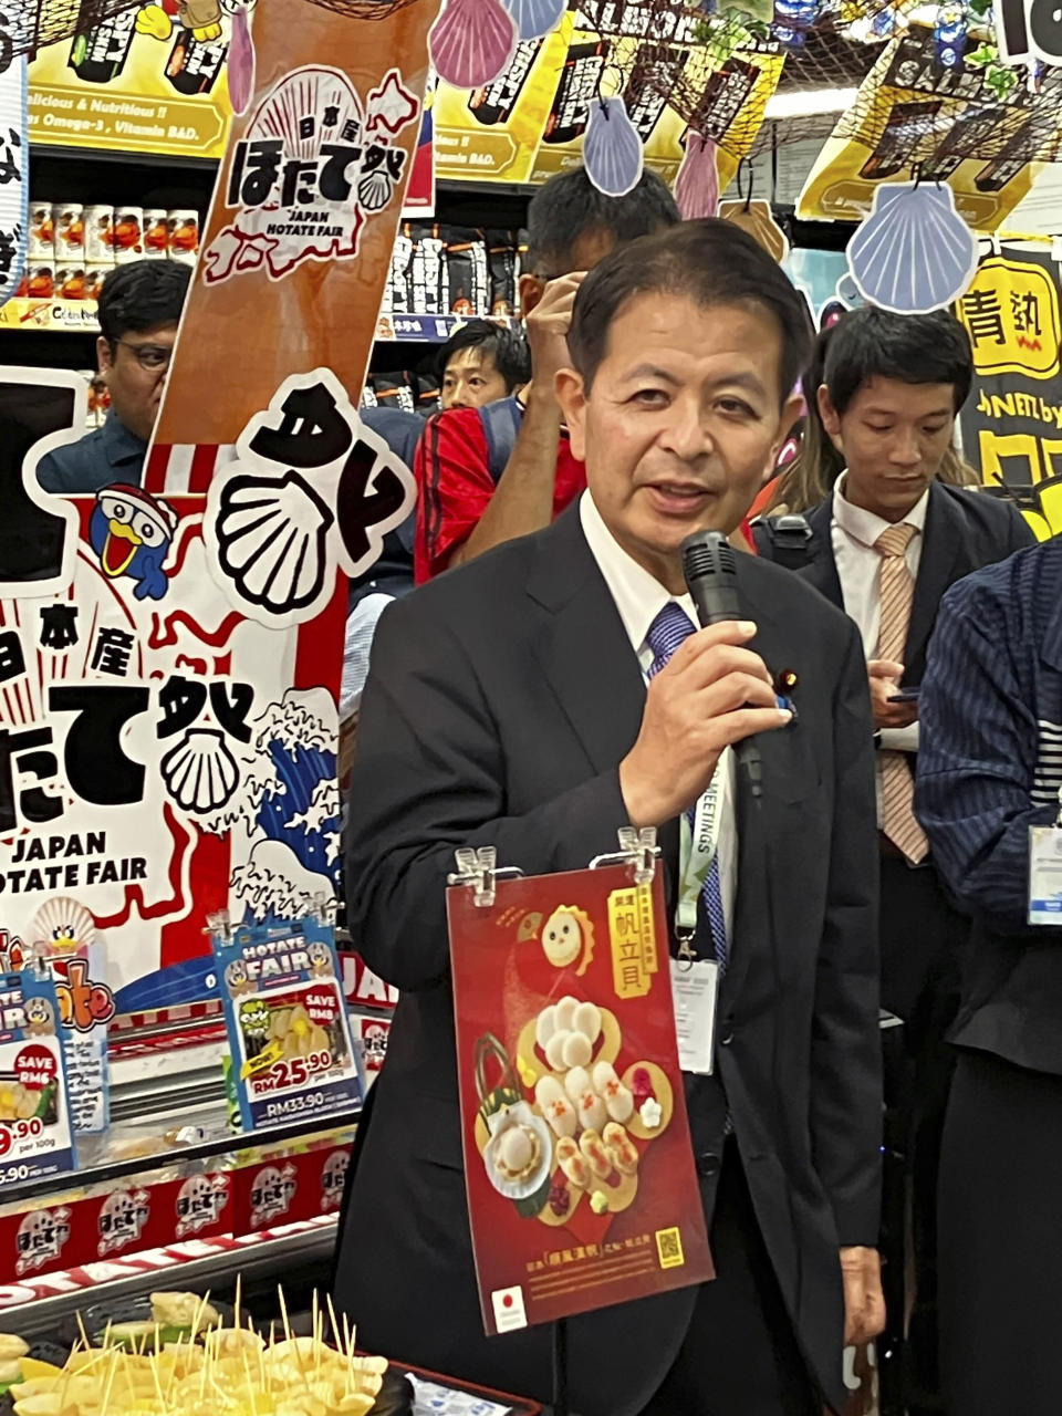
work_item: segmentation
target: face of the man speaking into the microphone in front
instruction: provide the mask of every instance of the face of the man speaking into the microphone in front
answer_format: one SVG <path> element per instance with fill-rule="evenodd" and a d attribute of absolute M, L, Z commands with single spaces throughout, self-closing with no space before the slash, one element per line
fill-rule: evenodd
<path fill-rule="evenodd" d="M 586 394 L 558 375 L 572 452 L 619 544 L 671 590 L 694 531 L 729 535 L 775 464 L 800 401 L 779 404 L 782 331 L 766 310 L 639 295 L 612 323 Z"/>

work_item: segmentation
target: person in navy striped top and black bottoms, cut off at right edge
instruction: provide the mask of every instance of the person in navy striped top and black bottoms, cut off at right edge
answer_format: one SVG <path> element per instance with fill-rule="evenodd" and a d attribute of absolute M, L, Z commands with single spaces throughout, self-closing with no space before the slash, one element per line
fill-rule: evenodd
<path fill-rule="evenodd" d="M 974 916 L 940 1160 L 949 1416 L 1059 1406 L 1062 929 L 1029 925 L 1029 827 L 1055 826 L 1062 789 L 1059 605 L 1059 537 L 971 575 L 925 680 L 919 818 Z"/>

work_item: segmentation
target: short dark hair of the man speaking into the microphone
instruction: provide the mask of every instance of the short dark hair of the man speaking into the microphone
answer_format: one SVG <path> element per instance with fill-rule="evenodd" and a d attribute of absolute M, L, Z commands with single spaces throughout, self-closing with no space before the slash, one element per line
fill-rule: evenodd
<path fill-rule="evenodd" d="M 609 329 L 636 295 L 688 296 L 702 309 L 736 304 L 767 310 L 782 334 L 784 402 L 811 353 L 807 307 L 782 266 L 748 232 L 715 217 L 684 221 L 613 251 L 575 297 L 568 348 L 589 391 L 605 358 Z"/>

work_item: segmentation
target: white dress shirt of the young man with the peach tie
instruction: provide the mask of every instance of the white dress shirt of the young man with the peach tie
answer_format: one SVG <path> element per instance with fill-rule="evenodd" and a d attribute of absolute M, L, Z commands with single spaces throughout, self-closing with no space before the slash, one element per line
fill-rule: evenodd
<path fill-rule="evenodd" d="M 844 496 L 844 483 L 848 473 L 844 472 L 834 486 L 834 514 L 830 525 L 830 537 L 834 549 L 834 564 L 837 578 L 841 582 L 844 596 L 844 612 L 854 619 L 862 636 L 862 650 L 868 660 L 878 657 L 878 633 L 881 629 L 881 552 L 874 549 L 874 542 L 886 531 L 892 521 L 885 521 L 872 511 L 854 507 Z M 918 579 L 918 568 L 922 562 L 922 545 L 926 530 L 926 508 L 929 506 L 929 491 L 923 491 L 915 506 L 901 520 L 899 525 L 910 525 L 915 535 L 910 538 L 905 559 L 912 581 Z M 909 728 L 884 728 L 881 733 L 882 748 L 895 752 L 918 752 L 918 721 Z"/>

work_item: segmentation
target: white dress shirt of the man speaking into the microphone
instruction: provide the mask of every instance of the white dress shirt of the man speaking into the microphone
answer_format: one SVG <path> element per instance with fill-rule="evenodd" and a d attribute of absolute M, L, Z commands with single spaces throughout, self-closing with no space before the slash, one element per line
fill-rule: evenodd
<path fill-rule="evenodd" d="M 647 636 L 653 620 L 668 600 L 674 600 L 685 612 L 695 629 L 697 610 L 694 609 L 694 602 L 690 595 L 671 595 L 660 581 L 627 555 L 602 521 L 600 511 L 593 504 L 589 491 L 583 491 L 579 500 L 579 517 L 590 554 L 598 562 L 600 573 L 605 576 L 605 583 L 616 602 L 616 609 L 623 620 L 627 639 L 639 657 L 646 683 L 649 683 L 649 670 L 653 666 L 654 656 Z M 726 919 L 728 943 L 732 950 L 733 902 L 738 893 L 738 831 L 733 818 L 735 758 L 729 748 L 719 758 L 719 769 L 716 772 L 719 789 L 719 891 Z"/>

